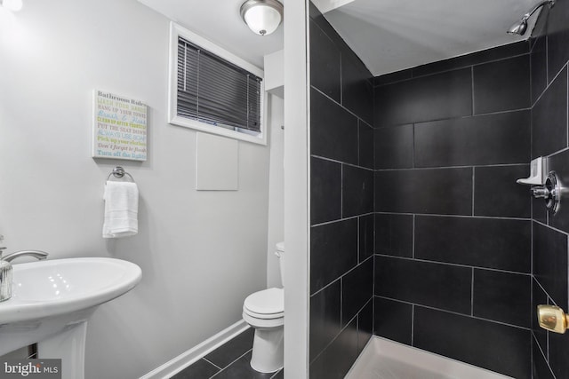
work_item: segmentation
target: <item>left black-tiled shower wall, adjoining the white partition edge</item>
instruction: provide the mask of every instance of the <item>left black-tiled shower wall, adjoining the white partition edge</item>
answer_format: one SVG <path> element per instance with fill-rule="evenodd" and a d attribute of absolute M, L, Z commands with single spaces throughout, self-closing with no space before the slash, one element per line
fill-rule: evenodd
<path fill-rule="evenodd" d="M 310 17 L 310 378 L 334 379 L 373 329 L 373 77 Z"/>

